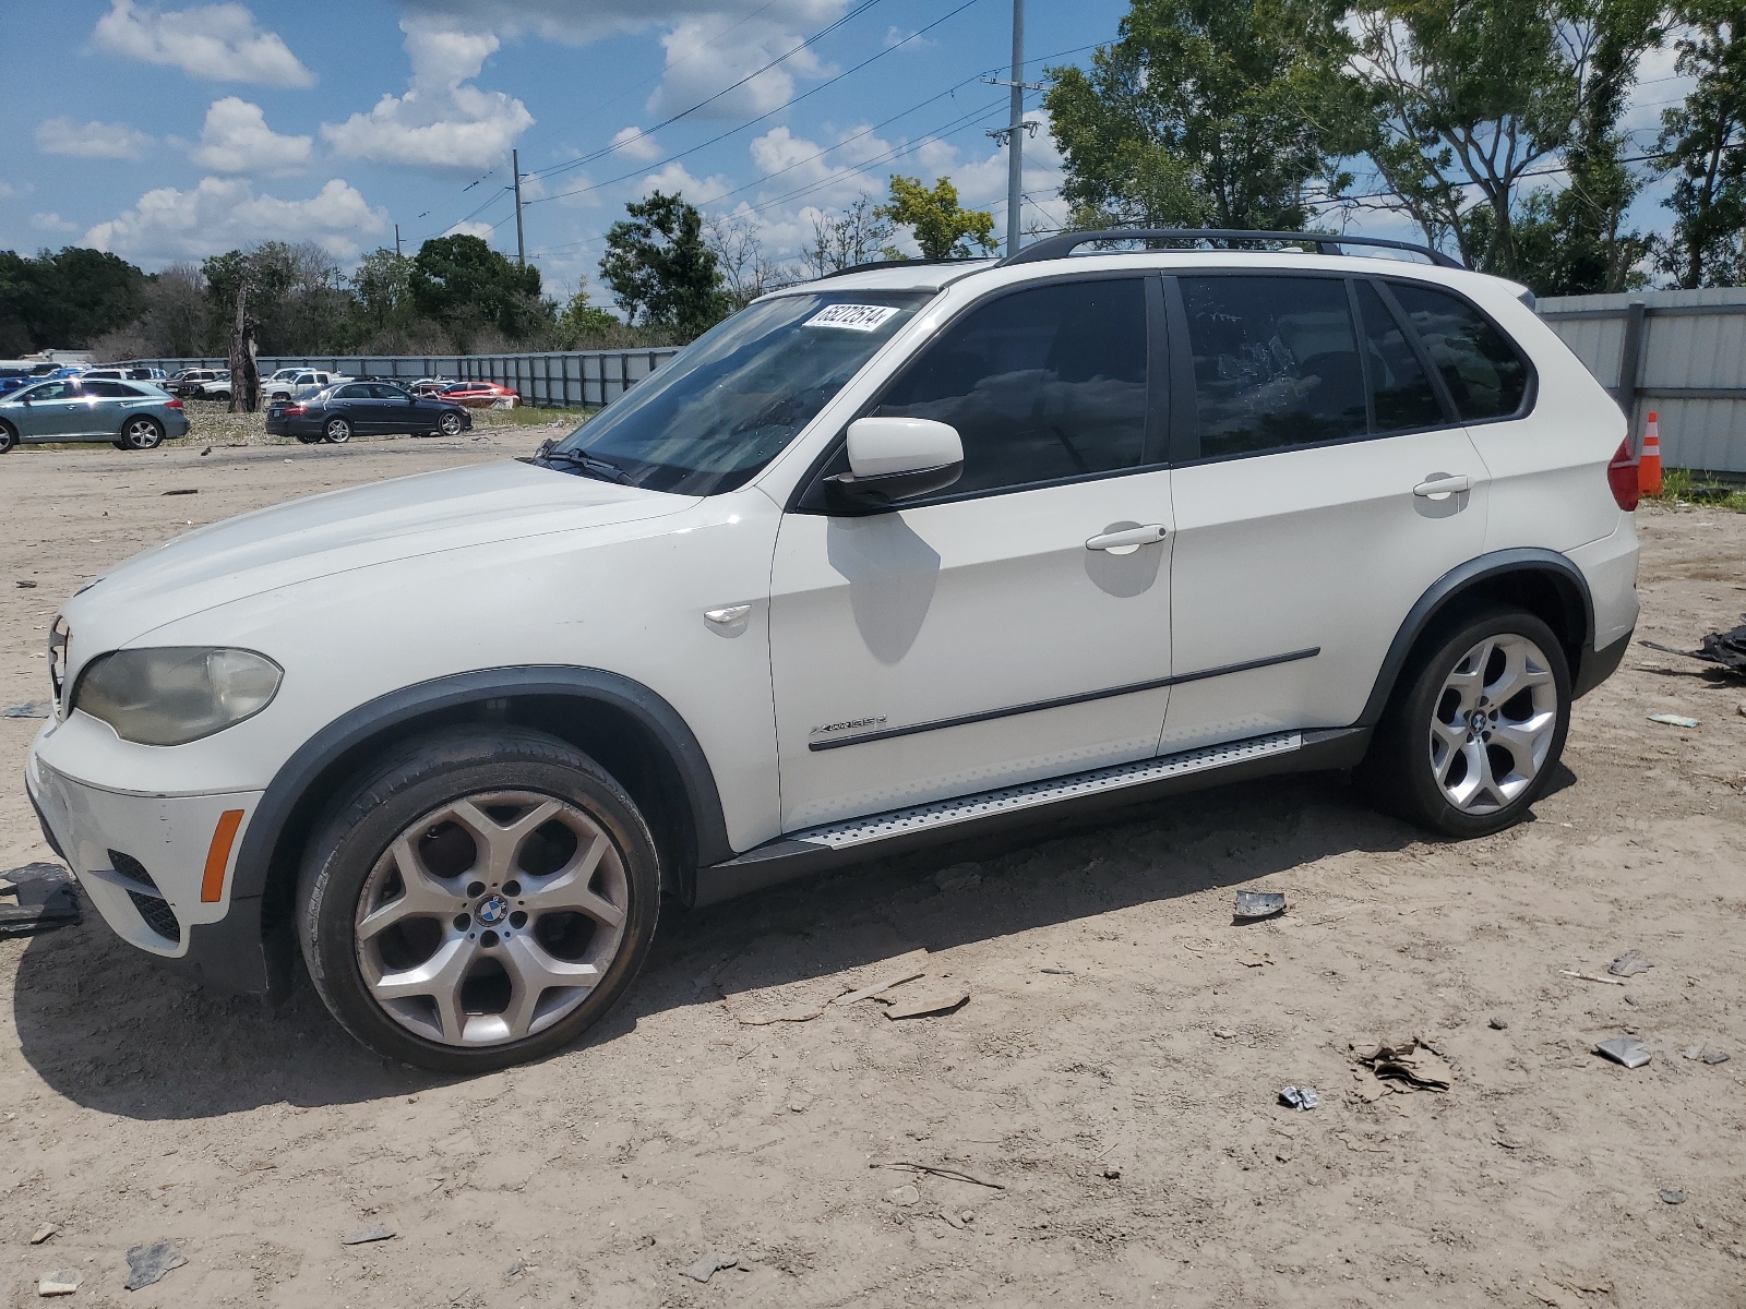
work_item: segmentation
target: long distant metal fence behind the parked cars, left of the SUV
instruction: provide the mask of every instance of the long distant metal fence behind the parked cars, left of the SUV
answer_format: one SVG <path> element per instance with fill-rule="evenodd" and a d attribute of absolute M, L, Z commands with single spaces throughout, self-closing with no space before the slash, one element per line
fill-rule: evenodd
<path fill-rule="evenodd" d="M 347 377 L 452 377 L 457 382 L 499 382 L 522 403 L 540 408 L 594 408 L 616 400 L 679 351 L 548 351 L 540 354 L 262 354 L 260 375 L 279 368 L 320 368 Z M 229 368 L 229 360 L 131 360 L 164 372 Z"/>

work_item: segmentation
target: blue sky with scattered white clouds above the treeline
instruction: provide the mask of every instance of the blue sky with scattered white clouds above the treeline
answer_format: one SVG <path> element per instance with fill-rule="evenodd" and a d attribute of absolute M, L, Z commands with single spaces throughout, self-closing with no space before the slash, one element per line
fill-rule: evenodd
<path fill-rule="evenodd" d="M 1030 0 L 1028 75 L 1083 63 L 1124 10 Z M 1006 225 L 985 134 L 1006 93 L 980 75 L 1007 59 L 1009 0 L 0 0 L 0 248 L 161 269 L 307 239 L 349 267 L 398 223 L 409 253 L 450 230 L 513 253 L 512 147 L 529 258 L 557 293 L 656 187 L 737 215 L 777 260 L 892 171 L 948 175 Z M 1671 52 L 1645 63 L 1645 140 L 1683 89 L 1671 72 Z M 1060 220 L 1058 183 L 1044 129 L 1027 225 Z M 1664 222 L 1657 195 L 1638 222 Z M 1353 229 L 1413 236 L 1390 215 Z"/>

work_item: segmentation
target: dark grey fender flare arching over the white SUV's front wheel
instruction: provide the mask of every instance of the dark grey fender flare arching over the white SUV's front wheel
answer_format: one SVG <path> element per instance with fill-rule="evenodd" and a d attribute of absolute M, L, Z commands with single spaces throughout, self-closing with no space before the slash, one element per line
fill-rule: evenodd
<path fill-rule="evenodd" d="M 388 728 L 428 714 L 480 705 L 510 696 L 564 696 L 609 705 L 644 728 L 665 750 L 684 787 L 697 833 L 698 862 L 732 859 L 721 794 L 704 747 L 679 712 L 660 695 L 601 668 L 534 665 L 482 668 L 403 686 L 377 696 L 328 723 L 306 740 L 267 784 L 243 834 L 232 878 L 232 901 L 258 897 L 267 890 L 274 853 L 297 805 L 309 787 L 347 752 Z"/>

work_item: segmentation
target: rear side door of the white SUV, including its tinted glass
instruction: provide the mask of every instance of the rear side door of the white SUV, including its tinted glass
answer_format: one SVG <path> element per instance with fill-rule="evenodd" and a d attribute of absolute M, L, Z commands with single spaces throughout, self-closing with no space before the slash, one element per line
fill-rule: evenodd
<path fill-rule="evenodd" d="M 1175 281 L 1165 750 L 1362 712 L 1413 604 L 1484 552 L 1488 471 L 1385 290 Z"/>

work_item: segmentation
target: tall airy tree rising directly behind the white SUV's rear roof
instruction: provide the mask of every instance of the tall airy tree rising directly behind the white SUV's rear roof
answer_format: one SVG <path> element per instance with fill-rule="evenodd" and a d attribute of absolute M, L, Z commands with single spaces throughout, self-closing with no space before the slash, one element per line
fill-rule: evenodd
<path fill-rule="evenodd" d="M 1566 286 L 1624 279 L 1634 237 L 1619 223 L 1634 182 L 1617 122 L 1638 58 L 1660 40 L 1652 5 L 1360 0 L 1351 21 L 1353 86 L 1369 106 L 1385 208 L 1486 272 L 1550 269 L 1547 279 Z M 1524 180 L 1559 154 L 1575 194 L 1524 209 Z M 1519 243 L 1524 216 L 1540 225 L 1536 258 Z"/>

